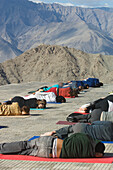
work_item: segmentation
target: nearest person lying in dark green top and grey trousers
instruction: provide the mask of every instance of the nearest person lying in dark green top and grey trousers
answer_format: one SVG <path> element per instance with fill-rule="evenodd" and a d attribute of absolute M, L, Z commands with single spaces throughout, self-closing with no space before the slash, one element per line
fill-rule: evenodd
<path fill-rule="evenodd" d="M 103 157 L 105 146 L 84 133 L 76 133 L 64 140 L 54 136 L 40 136 L 30 141 L 0 144 L 0 154 L 31 155 L 46 158 Z"/>

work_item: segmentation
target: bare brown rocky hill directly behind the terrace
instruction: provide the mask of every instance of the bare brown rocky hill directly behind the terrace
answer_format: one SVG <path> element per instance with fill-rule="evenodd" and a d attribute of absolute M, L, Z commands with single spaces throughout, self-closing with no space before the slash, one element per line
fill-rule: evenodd
<path fill-rule="evenodd" d="M 87 77 L 113 82 L 113 56 L 74 48 L 39 45 L 0 64 L 0 85 L 21 82 L 66 82 Z"/>

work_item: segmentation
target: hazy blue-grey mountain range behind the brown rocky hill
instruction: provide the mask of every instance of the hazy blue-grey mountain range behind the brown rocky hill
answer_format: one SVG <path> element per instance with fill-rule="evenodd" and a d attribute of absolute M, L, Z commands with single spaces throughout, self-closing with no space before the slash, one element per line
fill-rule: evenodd
<path fill-rule="evenodd" d="M 113 55 L 113 9 L 0 1 L 0 62 L 40 44 Z"/>

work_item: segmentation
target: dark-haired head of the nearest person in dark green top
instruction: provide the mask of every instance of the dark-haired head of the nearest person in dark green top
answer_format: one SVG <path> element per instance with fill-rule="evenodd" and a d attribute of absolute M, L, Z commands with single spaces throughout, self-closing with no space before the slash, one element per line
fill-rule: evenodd
<path fill-rule="evenodd" d="M 95 146 L 95 157 L 103 157 L 105 150 L 105 145 L 102 142 L 99 142 Z"/>

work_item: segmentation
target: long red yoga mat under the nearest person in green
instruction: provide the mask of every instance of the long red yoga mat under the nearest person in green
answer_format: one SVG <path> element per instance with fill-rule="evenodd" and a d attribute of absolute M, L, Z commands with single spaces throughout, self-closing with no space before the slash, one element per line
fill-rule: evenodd
<path fill-rule="evenodd" d="M 47 161 L 47 162 L 49 161 L 49 162 L 80 162 L 80 163 L 113 163 L 113 157 L 63 159 L 63 158 L 41 158 L 41 157 L 26 156 L 26 155 L 0 154 L 0 159 L 24 160 L 24 161 Z"/>

